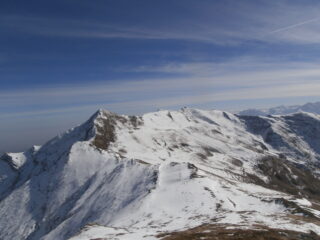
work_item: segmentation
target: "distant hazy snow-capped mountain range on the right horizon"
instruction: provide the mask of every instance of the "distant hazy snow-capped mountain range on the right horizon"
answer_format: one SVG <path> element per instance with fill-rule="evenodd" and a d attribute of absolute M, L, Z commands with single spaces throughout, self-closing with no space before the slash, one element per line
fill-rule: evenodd
<path fill-rule="evenodd" d="M 239 112 L 239 115 L 246 116 L 267 116 L 267 115 L 285 115 L 298 112 L 309 112 L 320 114 L 320 102 L 306 103 L 304 105 L 278 106 L 268 109 L 247 109 Z"/>

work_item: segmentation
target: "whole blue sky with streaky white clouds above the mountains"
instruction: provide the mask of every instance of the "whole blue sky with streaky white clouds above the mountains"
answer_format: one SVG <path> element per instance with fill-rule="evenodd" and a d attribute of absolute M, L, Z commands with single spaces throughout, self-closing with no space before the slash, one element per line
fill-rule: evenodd
<path fill-rule="evenodd" d="M 0 153 L 97 109 L 320 100 L 318 0 L 0 2 Z"/>

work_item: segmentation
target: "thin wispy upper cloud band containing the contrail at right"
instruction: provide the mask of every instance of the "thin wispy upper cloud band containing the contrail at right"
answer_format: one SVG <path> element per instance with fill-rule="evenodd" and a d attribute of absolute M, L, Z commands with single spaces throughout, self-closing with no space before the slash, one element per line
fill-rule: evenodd
<path fill-rule="evenodd" d="M 1 17 L 1 26 L 29 34 L 88 39 L 187 40 L 218 45 L 237 45 L 246 41 L 319 43 L 320 4 L 306 4 L 301 8 L 296 1 L 291 4 L 286 1 L 258 1 L 256 4 L 233 1 L 220 12 L 219 8 L 221 6 L 214 2 L 199 2 L 195 8 L 198 11 L 193 11 L 192 16 L 171 15 L 170 24 L 165 21 L 151 25 L 134 21 L 110 23 L 94 18 L 84 21 L 7 15 Z M 228 18 L 222 18 L 224 15 Z"/>

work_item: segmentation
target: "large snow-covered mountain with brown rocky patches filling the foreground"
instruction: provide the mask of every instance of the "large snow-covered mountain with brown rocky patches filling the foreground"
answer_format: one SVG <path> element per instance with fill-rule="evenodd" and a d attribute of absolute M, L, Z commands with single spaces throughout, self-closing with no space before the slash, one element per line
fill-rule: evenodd
<path fill-rule="evenodd" d="M 100 110 L 0 158 L 0 239 L 319 239 L 319 136 L 311 113 Z"/>

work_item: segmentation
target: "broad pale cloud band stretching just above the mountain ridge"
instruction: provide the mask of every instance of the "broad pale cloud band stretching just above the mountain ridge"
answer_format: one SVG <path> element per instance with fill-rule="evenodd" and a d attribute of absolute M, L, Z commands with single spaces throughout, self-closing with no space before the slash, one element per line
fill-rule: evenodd
<path fill-rule="evenodd" d="M 0 110 L 3 109 L 0 118 L 19 112 L 22 115 L 46 114 L 50 109 L 57 113 L 64 109 L 81 111 L 81 108 L 101 106 L 113 111 L 141 113 L 146 109 L 181 105 L 201 107 L 216 101 L 318 96 L 320 90 L 317 63 L 238 59 L 224 63 L 137 66 L 128 71 L 165 71 L 183 73 L 183 76 L 0 91 Z"/>

